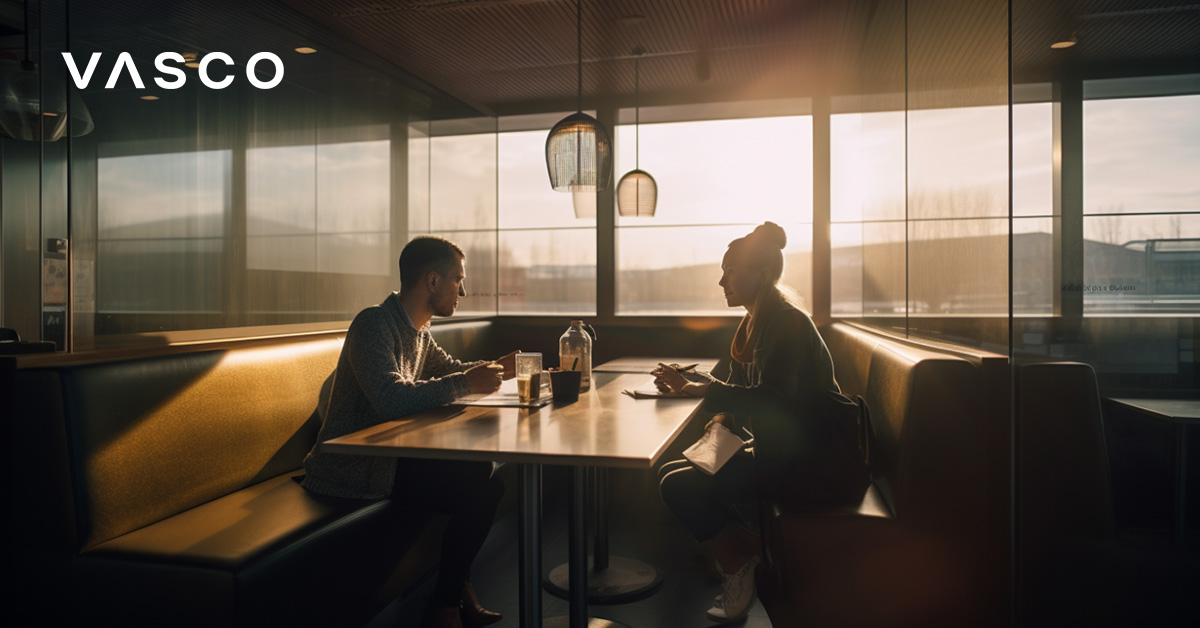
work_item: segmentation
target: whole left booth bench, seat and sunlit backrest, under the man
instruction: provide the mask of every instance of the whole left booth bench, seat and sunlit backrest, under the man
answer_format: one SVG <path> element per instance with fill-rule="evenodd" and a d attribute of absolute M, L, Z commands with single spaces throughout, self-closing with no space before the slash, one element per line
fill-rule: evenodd
<path fill-rule="evenodd" d="M 487 323 L 439 325 L 485 351 Z M 440 524 L 295 477 L 343 334 L 18 369 L 6 548 L 38 623 L 361 626 L 437 564 Z M 19 443 L 19 444 L 18 444 Z M 22 616 L 18 614 L 18 616 Z"/>

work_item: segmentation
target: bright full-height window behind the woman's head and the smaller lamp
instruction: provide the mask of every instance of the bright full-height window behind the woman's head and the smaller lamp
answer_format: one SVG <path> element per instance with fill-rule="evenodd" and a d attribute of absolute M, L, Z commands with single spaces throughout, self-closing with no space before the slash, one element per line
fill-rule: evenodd
<path fill-rule="evenodd" d="M 644 112 L 643 112 L 644 115 Z M 617 126 L 614 180 L 634 169 L 634 125 Z M 763 221 L 787 232 L 784 283 L 811 294 L 812 118 L 641 125 L 654 217 L 617 217 L 618 315 L 734 315 L 716 282 L 728 243 Z"/>

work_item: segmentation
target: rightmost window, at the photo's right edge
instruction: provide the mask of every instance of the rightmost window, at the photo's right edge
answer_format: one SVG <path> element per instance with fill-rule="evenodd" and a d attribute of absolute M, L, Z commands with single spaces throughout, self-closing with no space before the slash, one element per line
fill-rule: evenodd
<path fill-rule="evenodd" d="M 1084 312 L 1195 313 L 1200 95 L 1138 86 L 1084 84 Z"/>

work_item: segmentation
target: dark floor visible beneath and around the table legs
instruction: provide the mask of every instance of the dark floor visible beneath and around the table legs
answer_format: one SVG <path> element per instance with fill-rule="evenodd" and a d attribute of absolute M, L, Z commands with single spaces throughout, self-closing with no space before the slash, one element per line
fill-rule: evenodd
<path fill-rule="evenodd" d="M 716 626 L 704 611 L 720 593 L 715 573 L 704 568 L 698 549 L 686 532 L 671 519 L 652 496 L 654 477 L 649 473 L 619 472 L 613 477 L 613 514 L 610 518 L 612 555 L 637 558 L 658 567 L 662 586 L 653 594 L 625 604 L 589 606 L 592 617 L 622 622 L 630 628 L 709 628 Z M 542 572 L 550 573 L 566 561 L 566 504 L 562 486 L 547 477 L 544 503 Z M 517 526 L 510 512 L 496 522 L 487 543 L 475 560 L 472 580 L 485 606 L 504 614 L 497 628 L 518 623 Z M 401 603 L 394 603 L 368 628 L 418 627 L 432 581 Z M 566 600 L 542 591 L 542 616 L 566 615 Z M 770 621 L 760 603 L 742 624 L 769 628 Z"/>

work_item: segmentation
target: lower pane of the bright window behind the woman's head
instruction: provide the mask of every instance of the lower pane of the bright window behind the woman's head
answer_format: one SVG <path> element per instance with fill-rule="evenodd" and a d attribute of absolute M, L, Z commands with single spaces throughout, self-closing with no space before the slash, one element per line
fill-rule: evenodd
<path fill-rule="evenodd" d="M 811 304 L 812 226 L 781 225 L 787 232 L 784 285 Z M 617 313 L 740 315 L 725 305 L 721 258 L 728 244 L 754 225 L 638 227 L 617 232 Z M 664 243 L 671 243 L 664 246 Z"/>

